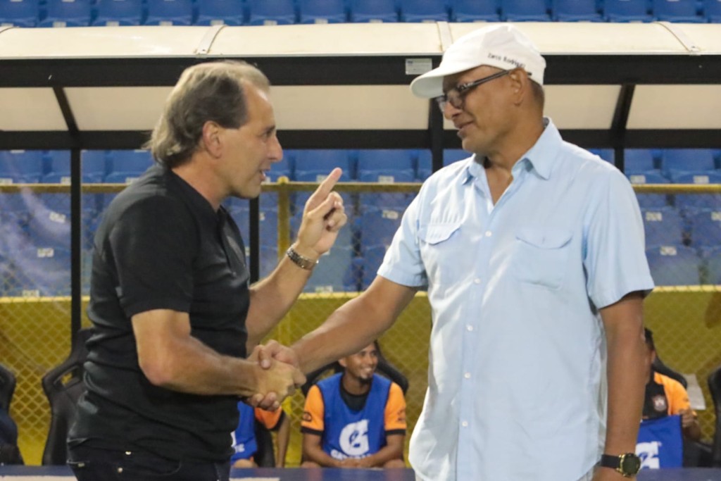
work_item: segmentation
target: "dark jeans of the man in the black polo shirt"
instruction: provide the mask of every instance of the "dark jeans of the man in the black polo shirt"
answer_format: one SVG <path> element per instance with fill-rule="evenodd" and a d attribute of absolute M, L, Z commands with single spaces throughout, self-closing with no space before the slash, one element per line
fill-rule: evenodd
<path fill-rule="evenodd" d="M 68 450 L 68 465 L 78 481 L 229 481 L 230 461 L 189 463 L 148 451 L 112 451 L 89 446 Z"/>

